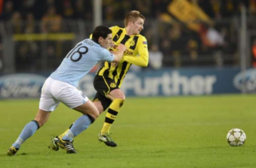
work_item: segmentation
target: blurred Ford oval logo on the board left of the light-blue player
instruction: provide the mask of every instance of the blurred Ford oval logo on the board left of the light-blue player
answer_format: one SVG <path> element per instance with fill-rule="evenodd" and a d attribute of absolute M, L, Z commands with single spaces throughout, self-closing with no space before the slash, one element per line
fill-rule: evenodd
<path fill-rule="evenodd" d="M 35 74 L 10 74 L 0 76 L 0 98 L 40 97 L 46 77 Z"/>

